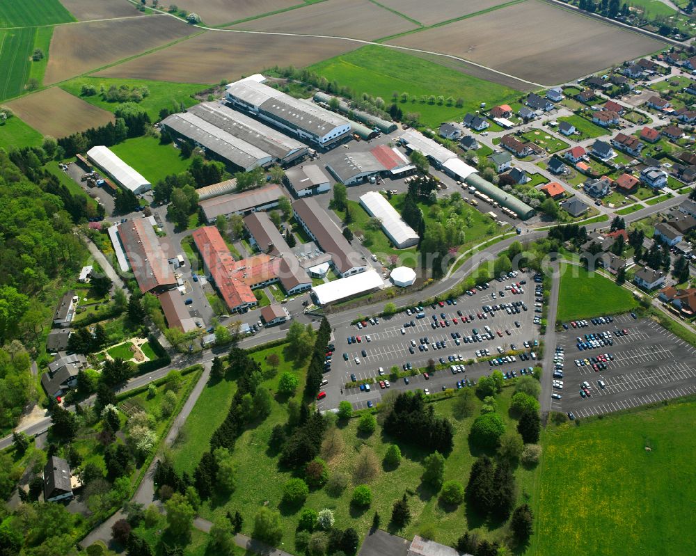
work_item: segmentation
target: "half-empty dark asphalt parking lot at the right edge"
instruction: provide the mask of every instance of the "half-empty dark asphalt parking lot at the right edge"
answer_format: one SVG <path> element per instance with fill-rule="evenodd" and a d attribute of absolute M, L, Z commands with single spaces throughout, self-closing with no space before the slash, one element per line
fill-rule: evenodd
<path fill-rule="evenodd" d="M 604 332 L 613 345 L 578 349 L 576 337 Z M 557 338 L 564 349 L 563 388 L 553 390 L 562 396 L 552 399 L 553 411 L 583 418 L 696 393 L 696 348 L 649 319 L 619 315 L 608 324 L 569 327 Z M 592 368 L 592 358 L 603 355 L 603 365 Z M 585 359 L 590 365 L 576 365 Z"/>

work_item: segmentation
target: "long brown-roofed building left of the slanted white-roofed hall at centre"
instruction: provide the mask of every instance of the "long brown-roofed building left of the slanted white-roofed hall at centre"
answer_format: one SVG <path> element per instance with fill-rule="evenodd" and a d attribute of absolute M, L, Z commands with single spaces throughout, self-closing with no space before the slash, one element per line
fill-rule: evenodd
<path fill-rule="evenodd" d="M 292 203 L 292 212 L 309 237 L 324 253 L 331 255 L 333 267 L 342 278 L 365 271 L 364 257 L 352 248 L 331 216 L 314 198 L 296 200 Z"/>

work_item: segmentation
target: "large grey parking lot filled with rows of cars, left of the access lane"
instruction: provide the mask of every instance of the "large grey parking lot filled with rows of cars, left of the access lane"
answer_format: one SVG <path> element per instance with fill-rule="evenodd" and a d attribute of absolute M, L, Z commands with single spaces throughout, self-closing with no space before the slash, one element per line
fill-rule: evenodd
<path fill-rule="evenodd" d="M 511 287 L 513 283 L 521 282 L 521 280 L 526 281 L 525 284 L 521 285 L 523 293 L 512 294 L 510 289 L 505 289 L 506 286 Z M 476 293 L 471 296 L 461 296 L 455 300 L 457 301 L 456 305 L 443 303 L 442 306 L 436 304 L 435 308 L 430 305 L 424 306 L 421 318 L 418 318 L 417 314 L 407 315 L 406 312 L 400 312 L 388 319 L 379 319 L 377 325 L 368 324 L 363 329 L 358 329 L 354 325 L 338 328 L 334 332 L 335 350 L 333 351 L 331 371 L 324 375 L 324 378 L 329 380 L 329 384 L 325 388 L 327 398 L 319 402 L 320 408 L 335 407 L 341 399 L 349 399 L 356 408 L 364 407 L 368 400 L 373 403 L 378 402 L 381 394 L 386 391 L 381 390 L 378 384 L 373 384 L 370 392 L 361 392 L 358 388 L 348 388 L 340 396 L 335 397 L 338 394 L 335 390 L 352 381 L 351 375 L 354 375 L 357 381 L 377 379 L 380 367 L 386 376 L 390 373 L 391 367 L 397 366 L 401 371 L 403 365 L 407 363 L 416 369 L 426 367 L 430 359 L 435 360 L 436 363 L 441 363 L 440 359 L 442 358 L 449 366 L 458 363 L 457 361 L 450 362 L 448 360 L 450 356 L 461 355 L 463 360 L 476 359 L 475 351 L 480 349 L 489 349 L 491 356 L 499 354 L 498 347 L 503 351 L 525 349 L 523 342 L 528 341 L 533 344 L 534 340 L 539 340 L 539 328 L 533 323 L 535 316 L 541 317 L 539 312 L 535 312 L 537 309 L 535 306 L 535 302 L 537 302 L 535 301 L 535 285 L 532 275 L 519 273 L 515 278 L 503 282 L 492 280 L 489 289 L 475 290 Z M 500 297 L 500 292 L 503 292 L 503 297 Z M 495 299 L 493 299 L 493 294 L 496 295 Z M 493 311 L 493 315 L 491 315 L 491 312 L 486 313 L 482 309 L 484 305 L 492 307 L 501 303 L 516 302 L 525 303 L 527 310 L 523 310 L 520 305 L 517 308 L 519 313 L 511 311 L 512 314 L 508 314 L 507 310 L 502 309 Z M 464 317 L 468 317 L 470 321 L 463 322 L 459 312 Z M 479 314 L 481 317 L 478 316 Z M 487 318 L 483 318 L 484 315 Z M 436 320 L 433 317 L 436 317 Z M 516 321 L 519 326 L 516 326 Z M 411 326 L 411 322 L 415 326 Z M 441 326 L 441 323 L 445 322 L 448 322 L 450 326 L 446 324 L 444 327 Z M 406 326 L 406 323 L 409 326 Z M 437 323 L 436 328 L 433 328 L 433 323 Z M 464 337 L 473 336 L 473 329 L 476 329 L 482 336 L 487 334 L 486 326 L 491 329 L 493 339 L 484 336 L 480 342 L 464 341 Z M 459 344 L 452 338 L 452 333 L 455 335 L 459 333 L 461 336 L 461 339 L 457 339 Z M 360 342 L 357 341 L 358 336 L 361 339 Z M 349 344 L 349 337 L 355 337 L 355 342 L 351 340 Z M 427 338 L 427 343 L 424 342 L 425 338 Z M 445 342 L 445 347 L 437 349 L 437 342 Z M 422 346 L 422 351 L 420 346 Z M 365 355 L 363 355 L 363 350 L 365 350 Z M 533 347 L 527 352 L 532 350 Z M 356 362 L 356 358 L 359 363 Z M 519 371 L 523 367 L 533 365 L 535 365 L 534 360 L 523 361 L 518 357 L 515 363 L 493 368 L 503 372 L 513 369 Z M 453 375 L 448 368 L 436 372 L 428 381 L 420 374 L 410 376 L 409 384 L 406 384 L 403 379 L 399 379 L 390 386 L 395 389 L 411 390 L 429 388 L 431 392 L 434 392 L 441 390 L 443 384 L 447 388 L 456 388 L 456 382 L 464 379 L 464 375 L 467 379 L 475 380 L 490 372 L 491 365 L 488 362 L 475 363 L 468 365 L 464 373 L 461 374 Z"/>

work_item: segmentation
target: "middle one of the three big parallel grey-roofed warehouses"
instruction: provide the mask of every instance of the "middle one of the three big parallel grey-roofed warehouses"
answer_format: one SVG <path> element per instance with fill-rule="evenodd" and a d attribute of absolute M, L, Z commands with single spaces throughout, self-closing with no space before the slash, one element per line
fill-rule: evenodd
<path fill-rule="evenodd" d="M 191 106 L 188 112 L 267 152 L 278 164 L 290 164 L 307 154 L 308 148 L 303 143 L 217 102 L 201 102 Z"/>

